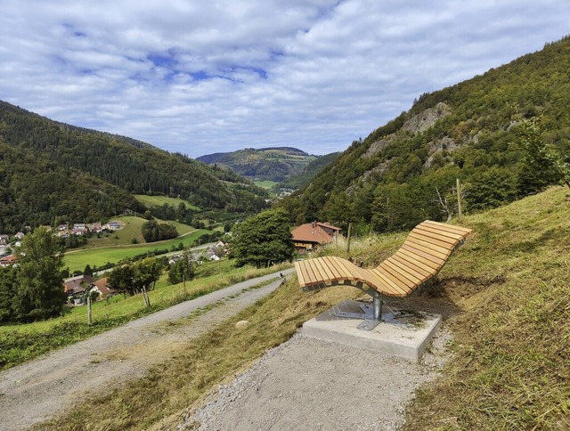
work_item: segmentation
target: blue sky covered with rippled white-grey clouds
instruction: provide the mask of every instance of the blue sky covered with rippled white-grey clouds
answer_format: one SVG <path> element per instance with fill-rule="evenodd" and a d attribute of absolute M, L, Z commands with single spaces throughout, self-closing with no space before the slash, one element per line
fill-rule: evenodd
<path fill-rule="evenodd" d="M 0 100 L 192 158 L 346 150 L 570 34 L 570 0 L 0 0 Z"/>

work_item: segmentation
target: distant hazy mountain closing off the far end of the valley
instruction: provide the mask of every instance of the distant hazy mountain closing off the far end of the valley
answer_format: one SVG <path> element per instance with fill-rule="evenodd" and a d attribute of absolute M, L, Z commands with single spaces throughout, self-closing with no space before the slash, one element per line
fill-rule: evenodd
<path fill-rule="evenodd" d="M 251 179 L 280 183 L 301 174 L 310 162 L 318 158 L 297 148 L 274 147 L 217 152 L 197 160 L 217 167 L 229 167 L 233 172 Z"/>

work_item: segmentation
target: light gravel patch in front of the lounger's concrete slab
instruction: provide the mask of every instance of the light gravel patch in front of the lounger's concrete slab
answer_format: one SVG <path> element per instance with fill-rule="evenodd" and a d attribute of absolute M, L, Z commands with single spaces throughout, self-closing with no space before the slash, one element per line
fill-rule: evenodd
<path fill-rule="evenodd" d="M 297 334 L 268 351 L 178 430 L 394 430 L 414 390 L 436 378 L 449 334 L 418 363 Z"/>

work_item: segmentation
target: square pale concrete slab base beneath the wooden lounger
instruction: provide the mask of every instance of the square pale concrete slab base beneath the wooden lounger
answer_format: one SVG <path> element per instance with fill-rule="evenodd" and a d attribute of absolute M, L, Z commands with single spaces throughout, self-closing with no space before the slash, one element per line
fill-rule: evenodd
<path fill-rule="evenodd" d="M 382 322 L 375 329 L 367 331 L 356 328 L 361 319 L 333 314 L 362 313 L 362 304 L 366 303 L 347 300 L 335 305 L 314 319 L 305 321 L 301 333 L 307 337 L 376 350 L 417 362 L 442 322 L 439 314 L 410 312 L 384 305 Z"/>

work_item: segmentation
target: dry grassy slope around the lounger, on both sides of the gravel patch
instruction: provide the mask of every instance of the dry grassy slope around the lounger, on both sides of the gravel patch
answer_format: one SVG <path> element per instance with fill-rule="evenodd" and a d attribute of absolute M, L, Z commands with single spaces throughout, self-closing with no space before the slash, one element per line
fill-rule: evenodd
<path fill-rule="evenodd" d="M 570 427 L 570 196 L 552 188 L 476 216 L 474 229 L 434 285 L 403 299 L 447 310 L 452 360 L 408 409 L 408 429 Z M 351 257 L 376 265 L 407 232 L 354 241 Z M 329 253 L 346 256 L 336 248 Z M 308 319 L 360 290 L 303 293 L 289 281 L 212 332 L 181 346 L 171 361 L 61 419 L 48 429 L 175 427 L 178 415 L 246 369 Z M 234 329 L 248 320 L 246 329 Z M 379 370 L 381 372 L 381 370 Z M 128 409 L 126 409 L 128 405 Z M 382 411 L 379 410 L 379 417 Z M 165 420 L 165 418 L 167 418 Z"/>

